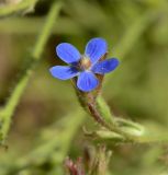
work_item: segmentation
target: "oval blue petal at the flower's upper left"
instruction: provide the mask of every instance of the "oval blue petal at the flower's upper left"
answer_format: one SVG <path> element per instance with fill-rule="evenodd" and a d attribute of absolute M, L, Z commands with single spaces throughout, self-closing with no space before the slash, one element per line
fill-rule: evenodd
<path fill-rule="evenodd" d="M 57 56 L 67 63 L 74 63 L 79 61 L 80 52 L 76 47 L 68 43 L 61 43 L 56 47 Z"/>

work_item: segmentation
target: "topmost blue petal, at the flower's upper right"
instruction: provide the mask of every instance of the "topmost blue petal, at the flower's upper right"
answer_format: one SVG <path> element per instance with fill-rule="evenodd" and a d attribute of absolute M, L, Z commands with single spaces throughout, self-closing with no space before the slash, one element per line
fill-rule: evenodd
<path fill-rule="evenodd" d="M 103 38 L 96 37 L 88 42 L 85 55 L 96 63 L 108 51 L 107 42 Z"/>

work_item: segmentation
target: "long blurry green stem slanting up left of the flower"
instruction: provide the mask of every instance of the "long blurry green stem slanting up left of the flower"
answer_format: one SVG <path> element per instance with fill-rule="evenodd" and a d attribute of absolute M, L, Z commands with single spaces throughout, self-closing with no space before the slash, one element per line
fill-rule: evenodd
<path fill-rule="evenodd" d="M 52 34 L 52 28 L 55 24 L 55 18 L 58 16 L 59 10 L 60 10 L 60 3 L 54 2 L 52 4 L 52 8 L 49 10 L 49 13 L 46 19 L 46 23 L 42 30 L 41 35 L 38 36 L 38 39 L 35 44 L 34 50 L 31 55 L 32 59 L 30 67 L 25 70 L 24 74 L 21 77 L 19 82 L 16 83 L 16 86 L 14 88 L 11 96 L 9 97 L 5 106 L 0 110 L 0 120 L 1 120 L 1 139 L 5 139 L 8 131 L 10 129 L 11 124 L 11 117 L 14 113 L 15 107 L 18 106 L 20 98 L 24 92 L 24 89 L 27 85 L 29 79 L 33 72 L 34 66 L 37 61 L 41 60 L 41 56 L 43 52 L 43 49 L 45 48 L 45 45 Z"/>

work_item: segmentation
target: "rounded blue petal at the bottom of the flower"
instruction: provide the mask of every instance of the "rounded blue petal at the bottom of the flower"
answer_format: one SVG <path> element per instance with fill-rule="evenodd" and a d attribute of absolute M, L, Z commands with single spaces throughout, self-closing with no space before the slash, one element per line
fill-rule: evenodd
<path fill-rule="evenodd" d="M 99 80 L 92 72 L 83 71 L 79 74 L 77 86 L 83 92 L 89 92 L 94 90 L 99 84 Z"/>

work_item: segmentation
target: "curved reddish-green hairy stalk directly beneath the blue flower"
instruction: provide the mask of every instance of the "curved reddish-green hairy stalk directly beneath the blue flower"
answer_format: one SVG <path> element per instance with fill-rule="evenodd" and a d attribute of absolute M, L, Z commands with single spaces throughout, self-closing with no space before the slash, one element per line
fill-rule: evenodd
<path fill-rule="evenodd" d="M 103 80 L 103 79 L 102 79 Z M 76 80 L 72 80 L 74 85 L 76 84 Z M 98 90 L 92 92 L 86 93 L 79 91 L 76 86 L 76 93 L 81 106 L 85 108 L 87 113 L 91 115 L 91 117 L 104 129 L 109 130 L 111 135 L 117 133 L 120 140 L 135 142 L 137 137 L 144 133 L 144 127 L 119 117 L 114 117 L 107 103 L 102 98 L 101 94 L 101 84 L 99 85 Z M 109 132 L 109 133 L 110 133 Z M 97 135 L 99 136 L 99 133 Z"/>

